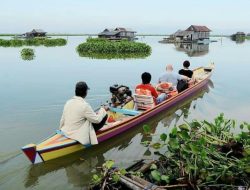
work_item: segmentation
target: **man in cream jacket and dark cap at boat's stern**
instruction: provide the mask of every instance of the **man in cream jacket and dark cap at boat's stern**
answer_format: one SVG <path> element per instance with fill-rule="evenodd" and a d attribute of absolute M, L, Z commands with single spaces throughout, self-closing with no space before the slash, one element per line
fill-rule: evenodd
<path fill-rule="evenodd" d="M 76 84 L 75 96 L 66 102 L 59 128 L 66 137 L 81 144 L 98 144 L 95 131 L 104 126 L 107 113 L 102 107 L 98 113 L 93 111 L 85 101 L 88 90 L 85 82 Z"/>

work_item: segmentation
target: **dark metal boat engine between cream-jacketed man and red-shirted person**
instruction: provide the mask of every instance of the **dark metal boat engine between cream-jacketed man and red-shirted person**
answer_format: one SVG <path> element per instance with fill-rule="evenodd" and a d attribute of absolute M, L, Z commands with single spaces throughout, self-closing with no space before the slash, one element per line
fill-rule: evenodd
<path fill-rule="evenodd" d="M 129 87 L 115 84 L 109 88 L 111 96 L 111 104 L 113 107 L 124 106 L 132 100 L 132 92 Z"/>

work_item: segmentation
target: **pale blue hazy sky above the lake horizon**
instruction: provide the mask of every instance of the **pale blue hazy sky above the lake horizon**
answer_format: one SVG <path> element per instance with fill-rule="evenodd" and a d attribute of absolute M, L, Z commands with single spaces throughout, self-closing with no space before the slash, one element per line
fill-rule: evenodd
<path fill-rule="evenodd" d="M 213 34 L 250 33 L 250 0 L 1 0 L 0 33 L 98 33 L 128 27 L 169 34 L 206 25 Z"/>

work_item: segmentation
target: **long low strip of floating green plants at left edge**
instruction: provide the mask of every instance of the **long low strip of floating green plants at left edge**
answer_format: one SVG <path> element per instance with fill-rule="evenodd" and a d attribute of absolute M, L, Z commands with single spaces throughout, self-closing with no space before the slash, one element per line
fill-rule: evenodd
<path fill-rule="evenodd" d="M 0 39 L 1 47 L 21 47 L 21 46 L 41 46 L 46 47 L 64 46 L 67 40 L 63 38 L 47 39 L 47 38 L 32 38 L 32 39 Z"/>

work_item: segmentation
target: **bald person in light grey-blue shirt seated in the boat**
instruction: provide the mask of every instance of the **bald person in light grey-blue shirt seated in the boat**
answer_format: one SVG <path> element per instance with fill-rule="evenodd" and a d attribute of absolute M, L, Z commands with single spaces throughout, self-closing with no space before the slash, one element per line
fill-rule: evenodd
<path fill-rule="evenodd" d="M 173 72 L 173 66 L 171 64 L 167 65 L 166 67 L 166 72 L 163 73 L 160 77 L 158 82 L 162 83 L 162 82 L 169 82 L 172 83 L 173 88 L 176 88 L 178 80 L 185 80 L 185 81 L 189 81 L 190 78 L 184 75 L 180 75 L 178 73 Z"/>

